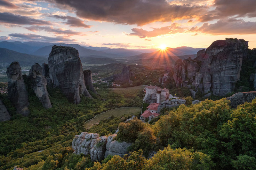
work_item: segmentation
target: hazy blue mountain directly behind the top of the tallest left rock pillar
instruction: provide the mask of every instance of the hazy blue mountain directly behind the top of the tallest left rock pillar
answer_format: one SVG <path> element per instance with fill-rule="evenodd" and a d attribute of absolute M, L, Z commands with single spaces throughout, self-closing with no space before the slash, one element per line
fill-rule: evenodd
<path fill-rule="evenodd" d="M 120 57 L 119 55 L 116 54 L 109 54 L 103 51 L 96 51 L 96 50 L 91 50 L 91 49 L 87 49 L 84 48 L 78 44 L 63 44 L 63 43 L 56 43 L 56 44 L 52 44 L 49 46 L 45 46 L 43 48 L 39 48 L 38 50 L 36 50 L 33 54 L 34 55 L 49 55 L 50 52 L 52 51 L 52 46 L 53 45 L 58 45 L 58 46 L 69 46 L 69 47 L 73 47 L 76 48 L 79 52 L 79 56 L 81 57 L 86 57 L 86 56 L 90 56 L 90 55 L 97 55 L 97 56 L 104 56 L 104 57 Z"/>

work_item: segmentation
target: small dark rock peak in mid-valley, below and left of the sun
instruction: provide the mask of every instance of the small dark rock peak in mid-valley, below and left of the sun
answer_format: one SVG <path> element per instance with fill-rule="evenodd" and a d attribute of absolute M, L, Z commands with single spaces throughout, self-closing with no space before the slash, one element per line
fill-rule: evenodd
<path fill-rule="evenodd" d="M 124 66 L 122 73 L 116 76 L 115 83 L 117 84 L 126 84 L 126 83 L 132 83 L 130 78 L 134 77 L 134 73 L 131 70 L 130 66 Z"/>

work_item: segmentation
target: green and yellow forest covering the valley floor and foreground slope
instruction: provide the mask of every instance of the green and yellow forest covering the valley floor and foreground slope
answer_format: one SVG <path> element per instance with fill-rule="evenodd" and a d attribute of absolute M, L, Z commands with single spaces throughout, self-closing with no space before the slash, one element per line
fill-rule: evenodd
<path fill-rule="evenodd" d="M 94 115 L 115 107 L 141 106 L 143 92 L 114 92 L 96 84 L 100 96 L 82 96 L 80 104 L 69 103 L 60 90 L 48 88 L 52 108 L 44 109 L 29 90 L 30 115 L 15 113 L 6 95 L 1 99 L 12 119 L 0 124 L 0 169 L 255 169 L 256 99 L 236 109 L 229 100 L 204 100 L 163 110 L 159 119 L 143 123 L 132 115 L 111 117 L 84 129 Z M 108 156 L 92 163 L 90 156 L 72 154 L 75 135 L 88 131 L 108 136 L 119 128 L 116 140 L 132 142 L 130 154 Z M 152 158 L 147 159 L 152 153 Z"/>

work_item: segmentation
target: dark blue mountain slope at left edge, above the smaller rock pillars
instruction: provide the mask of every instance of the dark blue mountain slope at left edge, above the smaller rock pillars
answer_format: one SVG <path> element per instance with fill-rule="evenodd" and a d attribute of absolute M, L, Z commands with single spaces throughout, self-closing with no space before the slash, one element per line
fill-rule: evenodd
<path fill-rule="evenodd" d="M 0 48 L 0 61 L 2 64 L 11 64 L 12 62 L 17 61 L 21 66 L 32 66 L 35 63 L 47 63 L 48 58 Z"/>

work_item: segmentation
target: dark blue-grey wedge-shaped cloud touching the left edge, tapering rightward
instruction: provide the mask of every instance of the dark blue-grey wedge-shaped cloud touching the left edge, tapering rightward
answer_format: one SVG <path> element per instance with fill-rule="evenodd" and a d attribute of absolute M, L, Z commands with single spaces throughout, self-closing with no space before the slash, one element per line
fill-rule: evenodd
<path fill-rule="evenodd" d="M 18 25 L 49 25 L 49 21 L 29 18 L 21 15 L 15 15 L 9 12 L 0 12 L 0 23 L 18 24 Z"/>

